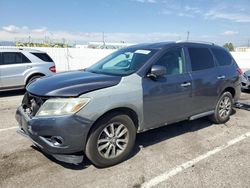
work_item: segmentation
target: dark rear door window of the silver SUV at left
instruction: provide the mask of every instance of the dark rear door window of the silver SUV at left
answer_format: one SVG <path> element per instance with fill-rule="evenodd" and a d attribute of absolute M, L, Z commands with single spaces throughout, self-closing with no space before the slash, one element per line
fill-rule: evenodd
<path fill-rule="evenodd" d="M 1 59 L 3 65 L 30 63 L 30 60 L 20 52 L 3 52 Z"/>

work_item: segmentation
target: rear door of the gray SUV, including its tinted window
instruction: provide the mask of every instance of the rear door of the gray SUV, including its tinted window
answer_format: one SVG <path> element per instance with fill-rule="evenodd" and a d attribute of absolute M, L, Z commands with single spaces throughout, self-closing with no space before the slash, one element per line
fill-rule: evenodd
<path fill-rule="evenodd" d="M 192 111 L 195 114 L 213 110 L 218 99 L 219 72 L 206 46 L 188 46 L 192 76 Z"/>

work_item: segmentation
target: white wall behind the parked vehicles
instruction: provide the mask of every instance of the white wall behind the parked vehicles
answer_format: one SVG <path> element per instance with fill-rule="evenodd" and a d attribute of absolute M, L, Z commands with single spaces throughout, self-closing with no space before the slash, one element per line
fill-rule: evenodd
<path fill-rule="evenodd" d="M 115 51 L 89 48 L 31 48 L 47 52 L 55 61 L 58 72 L 89 67 L 93 63 Z M 241 69 L 250 69 L 250 52 L 232 52 L 232 55 Z"/>

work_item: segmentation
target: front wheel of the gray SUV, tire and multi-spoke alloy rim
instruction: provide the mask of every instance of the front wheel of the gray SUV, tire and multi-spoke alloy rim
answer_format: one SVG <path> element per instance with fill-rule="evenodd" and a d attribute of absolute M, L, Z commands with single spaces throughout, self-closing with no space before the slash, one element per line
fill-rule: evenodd
<path fill-rule="evenodd" d="M 95 123 L 85 154 L 96 167 L 113 166 L 127 159 L 135 138 L 136 128 L 132 119 L 123 113 L 111 113 Z"/>

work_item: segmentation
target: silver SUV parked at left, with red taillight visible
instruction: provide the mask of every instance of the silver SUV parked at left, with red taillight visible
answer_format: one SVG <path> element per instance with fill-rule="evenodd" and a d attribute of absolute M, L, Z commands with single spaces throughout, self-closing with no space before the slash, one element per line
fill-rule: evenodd
<path fill-rule="evenodd" d="M 0 48 L 0 91 L 25 88 L 31 81 L 55 72 L 55 63 L 45 52 Z"/>

